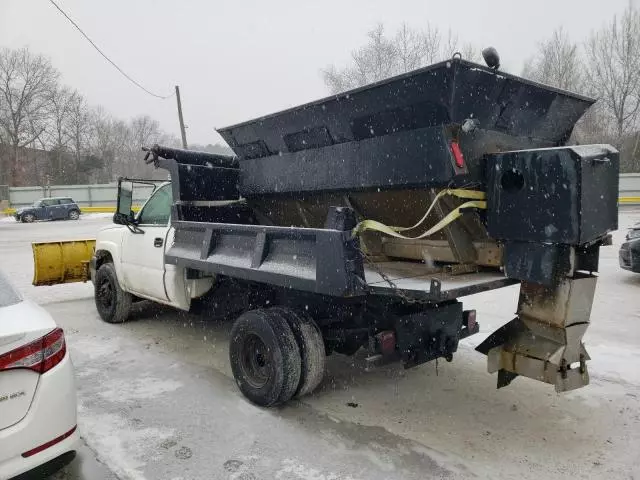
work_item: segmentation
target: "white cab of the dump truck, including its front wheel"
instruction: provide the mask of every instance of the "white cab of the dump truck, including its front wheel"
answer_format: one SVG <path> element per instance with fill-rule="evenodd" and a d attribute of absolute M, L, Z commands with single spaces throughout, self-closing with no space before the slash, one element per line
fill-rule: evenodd
<path fill-rule="evenodd" d="M 191 299 L 203 295 L 213 285 L 211 276 L 187 279 L 184 268 L 165 263 L 165 249 L 174 236 L 170 182 L 155 187 L 137 213 L 131 210 L 133 189 L 149 183 L 119 181 L 114 225 L 100 230 L 96 238 L 90 272 L 98 312 L 107 322 L 124 321 L 130 305 L 137 299 L 189 310 Z M 124 214 L 125 211 L 129 214 Z M 124 306 L 118 308 L 118 304 Z"/>

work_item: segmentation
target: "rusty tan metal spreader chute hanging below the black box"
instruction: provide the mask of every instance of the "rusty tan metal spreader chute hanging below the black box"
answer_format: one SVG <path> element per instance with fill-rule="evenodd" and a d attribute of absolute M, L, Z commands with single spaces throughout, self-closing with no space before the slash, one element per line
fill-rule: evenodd
<path fill-rule="evenodd" d="M 518 317 L 476 350 L 487 355 L 498 388 L 518 375 L 555 385 L 565 392 L 589 384 L 589 355 L 582 337 L 589 326 L 597 277 L 567 278 L 555 288 L 523 282 Z"/>

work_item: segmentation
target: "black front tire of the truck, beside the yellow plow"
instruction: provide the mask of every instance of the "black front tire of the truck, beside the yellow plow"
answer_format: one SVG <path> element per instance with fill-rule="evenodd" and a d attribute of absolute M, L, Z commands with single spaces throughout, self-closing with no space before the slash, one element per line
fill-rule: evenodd
<path fill-rule="evenodd" d="M 96 272 L 94 299 L 100 318 L 107 323 L 123 323 L 129 317 L 133 297 L 120 288 L 113 263 L 103 263 Z"/>

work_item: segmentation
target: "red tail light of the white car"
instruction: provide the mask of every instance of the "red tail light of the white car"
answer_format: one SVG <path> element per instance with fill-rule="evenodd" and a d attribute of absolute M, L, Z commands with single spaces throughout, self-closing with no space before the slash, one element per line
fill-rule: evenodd
<path fill-rule="evenodd" d="M 38 340 L 0 355 L 0 372 L 27 368 L 45 373 L 55 367 L 67 353 L 64 332 L 56 328 Z"/>

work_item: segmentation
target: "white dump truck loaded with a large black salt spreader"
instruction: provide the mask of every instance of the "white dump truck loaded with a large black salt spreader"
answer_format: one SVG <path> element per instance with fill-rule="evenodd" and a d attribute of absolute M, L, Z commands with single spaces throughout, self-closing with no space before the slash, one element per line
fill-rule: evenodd
<path fill-rule="evenodd" d="M 565 145 L 592 103 L 454 58 L 219 130 L 234 155 L 154 145 L 145 162 L 171 183 L 133 215 L 122 179 L 115 225 L 68 258 L 107 322 L 137 299 L 224 304 L 259 405 L 312 391 L 325 353 L 452 361 L 479 331 L 460 299 L 517 283 L 515 318 L 476 348 L 497 386 L 580 388 L 618 221 L 618 152 Z"/>

